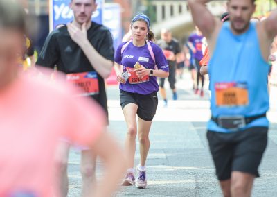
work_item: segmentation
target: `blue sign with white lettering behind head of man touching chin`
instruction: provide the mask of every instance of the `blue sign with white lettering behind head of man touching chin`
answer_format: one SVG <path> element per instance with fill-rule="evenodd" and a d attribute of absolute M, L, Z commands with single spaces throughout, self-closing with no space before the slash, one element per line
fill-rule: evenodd
<path fill-rule="evenodd" d="M 104 0 L 96 0 L 97 10 L 93 12 L 91 19 L 98 24 L 102 24 L 102 10 Z M 50 30 L 55 29 L 60 24 L 67 24 L 73 20 L 73 11 L 69 7 L 71 0 L 51 0 L 50 1 Z"/>

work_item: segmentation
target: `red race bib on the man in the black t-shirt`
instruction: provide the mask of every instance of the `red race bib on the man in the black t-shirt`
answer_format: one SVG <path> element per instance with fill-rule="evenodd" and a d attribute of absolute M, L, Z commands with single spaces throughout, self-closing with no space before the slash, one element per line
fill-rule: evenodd
<path fill-rule="evenodd" d="M 66 74 L 66 80 L 75 85 L 80 92 L 82 92 L 80 96 L 99 94 L 98 77 L 95 71 Z"/>

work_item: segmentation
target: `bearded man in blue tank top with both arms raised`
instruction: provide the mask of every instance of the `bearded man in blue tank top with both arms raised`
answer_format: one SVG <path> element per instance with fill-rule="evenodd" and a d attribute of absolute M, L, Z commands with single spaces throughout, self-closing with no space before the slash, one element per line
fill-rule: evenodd
<path fill-rule="evenodd" d="M 277 10 L 253 24 L 255 0 L 229 0 L 230 22 L 221 24 L 206 8 L 208 2 L 188 0 L 211 55 L 208 143 L 224 196 L 251 196 L 267 146 L 267 58 L 277 34 Z"/>

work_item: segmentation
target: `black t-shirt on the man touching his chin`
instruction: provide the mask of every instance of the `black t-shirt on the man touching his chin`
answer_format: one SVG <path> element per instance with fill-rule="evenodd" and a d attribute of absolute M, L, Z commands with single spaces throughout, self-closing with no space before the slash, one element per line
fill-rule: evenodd
<path fill-rule="evenodd" d="M 87 37 L 100 55 L 114 62 L 113 40 L 108 28 L 91 22 L 91 27 L 87 30 Z M 37 65 L 50 68 L 57 65 L 57 70 L 66 74 L 95 71 L 80 46 L 71 39 L 66 26 L 62 26 L 48 35 L 37 59 Z M 92 97 L 107 111 L 105 81 L 99 74 L 98 83 L 99 94 Z"/>

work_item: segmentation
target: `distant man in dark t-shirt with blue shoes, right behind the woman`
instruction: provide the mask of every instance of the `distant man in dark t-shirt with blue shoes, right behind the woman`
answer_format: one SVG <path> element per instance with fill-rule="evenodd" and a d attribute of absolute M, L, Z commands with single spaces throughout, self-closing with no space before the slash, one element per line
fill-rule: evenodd
<path fill-rule="evenodd" d="M 168 82 L 170 85 L 170 89 L 172 89 L 173 100 L 177 100 L 177 89 L 175 87 L 176 83 L 176 59 L 177 56 L 181 53 L 181 48 L 179 46 L 179 42 L 172 38 L 171 32 L 163 28 L 161 30 L 161 40 L 157 41 L 157 44 L 163 50 L 163 54 L 166 56 L 169 65 L 169 76 Z M 168 105 L 168 99 L 166 98 L 166 89 L 164 88 L 165 78 L 160 78 L 160 92 L 163 97 L 164 106 Z"/>

